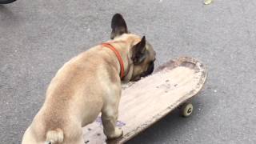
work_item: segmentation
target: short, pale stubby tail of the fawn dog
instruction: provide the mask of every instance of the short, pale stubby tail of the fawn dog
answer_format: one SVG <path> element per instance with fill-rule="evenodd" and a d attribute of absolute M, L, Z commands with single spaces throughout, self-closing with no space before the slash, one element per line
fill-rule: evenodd
<path fill-rule="evenodd" d="M 50 130 L 46 133 L 46 142 L 45 144 L 54 144 L 61 143 L 64 140 L 63 130 L 56 129 Z"/>

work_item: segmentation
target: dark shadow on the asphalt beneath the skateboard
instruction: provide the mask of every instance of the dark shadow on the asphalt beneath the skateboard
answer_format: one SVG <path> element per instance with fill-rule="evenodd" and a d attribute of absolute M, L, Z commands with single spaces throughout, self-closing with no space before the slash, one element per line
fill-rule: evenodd
<path fill-rule="evenodd" d="M 192 99 L 194 105 L 193 114 L 188 118 L 183 118 L 180 115 L 180 110 L 176 108 L 167 114 L 166 117 L 160 119 L 154 125 L 150 126 L 142 133 L 136 135 L 127 144 L 142 144 L 142 143 L 178 143 L 178 135 L 186 130 L 193 119 L 197 119 L 200 114 L 200 96 Z"/>

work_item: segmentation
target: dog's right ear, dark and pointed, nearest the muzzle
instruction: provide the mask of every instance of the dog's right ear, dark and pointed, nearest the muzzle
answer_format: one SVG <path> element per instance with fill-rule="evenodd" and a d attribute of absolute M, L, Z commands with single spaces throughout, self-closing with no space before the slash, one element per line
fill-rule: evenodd
<path fill-rule="evenodd" d="M 132 61 L 134 64 L 139 64 L 146 58 L 146 38 L 142 37 L 142 40 L 132 47 Z"/>

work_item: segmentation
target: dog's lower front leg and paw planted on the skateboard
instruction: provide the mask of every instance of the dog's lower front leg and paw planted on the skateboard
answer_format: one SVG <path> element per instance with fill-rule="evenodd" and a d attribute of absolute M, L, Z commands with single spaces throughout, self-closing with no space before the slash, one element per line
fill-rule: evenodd
<path fill-rule="evenodd" d="M 118 120 L 118 103 L 119 102 L 110 102 L 102 110 L 103 131 L 108 139 L 122 136 L 122 130 L 115 126 Z"/>

